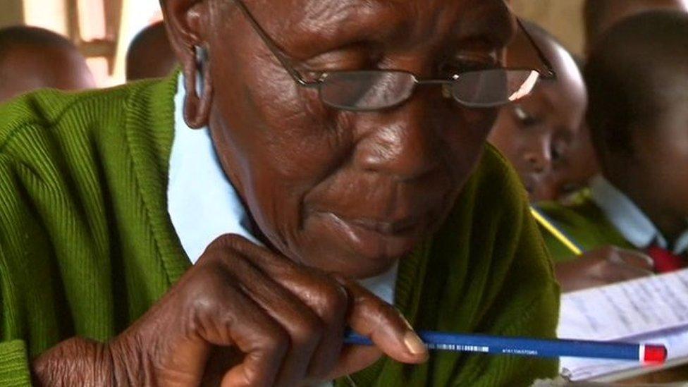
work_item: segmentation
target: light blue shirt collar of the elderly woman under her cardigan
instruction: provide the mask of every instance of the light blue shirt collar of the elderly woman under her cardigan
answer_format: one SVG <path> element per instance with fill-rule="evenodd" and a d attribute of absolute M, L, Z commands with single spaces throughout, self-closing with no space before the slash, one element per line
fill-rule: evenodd
<path fill-rule="evenodd" d="M 208 128 L 191 129 L 183 117 L 184 82 L 179 76 L 174 97 L 174 140 L 170 156 L 167 210 L 184 251 L 196 263 L 210 242 L 233 233 L 259 243 L 239 195 L 222 170 Z M 360 281 L 390 304 L 398 265 Z"/>

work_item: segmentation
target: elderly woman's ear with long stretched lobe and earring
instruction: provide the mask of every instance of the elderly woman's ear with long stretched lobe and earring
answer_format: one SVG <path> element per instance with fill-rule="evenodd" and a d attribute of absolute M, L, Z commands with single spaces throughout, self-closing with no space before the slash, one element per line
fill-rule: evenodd
<path fill-rule="evenodd" d="M 190 128 L 204 128 L 213 96 L 205 28 L 211 25 L 207 0 L 162 0 L 161 6 L 172 48 L 182 65 L 184 121 Z"/>

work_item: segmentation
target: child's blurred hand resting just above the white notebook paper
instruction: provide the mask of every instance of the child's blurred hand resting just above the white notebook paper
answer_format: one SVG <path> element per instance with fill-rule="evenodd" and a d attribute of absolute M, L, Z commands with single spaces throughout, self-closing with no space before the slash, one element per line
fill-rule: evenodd
<path fill-rule="evenodd" d="M 652 270 L 650 257 L 615 246 L 601 247 L 573 261 L 555 264 L 555 274 L 563 292 L 649 276 Z"/>

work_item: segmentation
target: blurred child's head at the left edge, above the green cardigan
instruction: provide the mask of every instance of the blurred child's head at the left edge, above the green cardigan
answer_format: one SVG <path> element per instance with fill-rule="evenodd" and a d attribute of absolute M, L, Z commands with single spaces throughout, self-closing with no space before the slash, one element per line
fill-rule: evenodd
<path fill-rule="evenodd" d="M 86 60 L 69 40 L 37 27 L 0 30 L 0 102 L 32 90 L 95 87 Z"/>

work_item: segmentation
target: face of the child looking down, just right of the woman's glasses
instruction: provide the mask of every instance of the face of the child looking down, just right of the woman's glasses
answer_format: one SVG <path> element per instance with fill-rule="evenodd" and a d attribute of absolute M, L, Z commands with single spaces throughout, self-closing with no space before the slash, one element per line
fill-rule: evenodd
<path fill-rule="evenodd" d="M 567 82 L 543 81 L 532 95 L 499 114 L 490 141 L 509 159 L 532 202 L 552 200 L 584 179 L 573 156 L 582 141 L 585 92 Z"/>

